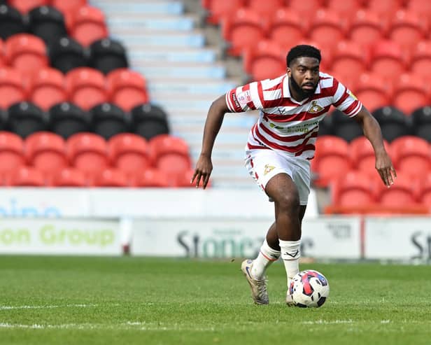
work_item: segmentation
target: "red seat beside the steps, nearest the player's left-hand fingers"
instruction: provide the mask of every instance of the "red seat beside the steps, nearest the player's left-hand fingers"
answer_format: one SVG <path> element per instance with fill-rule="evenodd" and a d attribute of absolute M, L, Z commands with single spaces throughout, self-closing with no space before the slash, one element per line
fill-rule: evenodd
<path fill-rule="evenodd" d="M 176 176 L 191 169 L 188 144 L 181 138 L 160 134 L 149 141 L 153 165 L 168 176 Z"/>

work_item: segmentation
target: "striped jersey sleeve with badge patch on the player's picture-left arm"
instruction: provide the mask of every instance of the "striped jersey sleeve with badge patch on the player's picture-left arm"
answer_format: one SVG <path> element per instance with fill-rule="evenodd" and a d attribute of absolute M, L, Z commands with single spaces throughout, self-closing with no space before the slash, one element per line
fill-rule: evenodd
<path fill-rule="evenodd" d="M 231 113 L 264 108 L 262 82 L 255 81 L 230 90 L 226 94 L 226 104 Z"/>

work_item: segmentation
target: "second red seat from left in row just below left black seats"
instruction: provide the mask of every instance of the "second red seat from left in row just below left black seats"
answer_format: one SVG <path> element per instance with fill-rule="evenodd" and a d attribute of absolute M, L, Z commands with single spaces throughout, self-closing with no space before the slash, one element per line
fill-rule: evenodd
<path fill-rule="evenodd" d="M 66 142 L 52 132 L 36 132 L 25 139 L 27 163 L 46 175 L 67 167 Z"/>

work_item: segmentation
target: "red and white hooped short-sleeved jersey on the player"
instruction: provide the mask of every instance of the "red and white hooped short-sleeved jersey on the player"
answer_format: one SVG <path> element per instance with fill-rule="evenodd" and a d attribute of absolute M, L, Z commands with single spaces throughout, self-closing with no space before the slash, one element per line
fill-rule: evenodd
<path fill-rule="evenodd" d="M 227 92 L 226 103 L 232 113 L 260 110 L 260 117 L 248 135 L 248 148 L 271 148 L 311 159 L 319 122 L 330 106 L 353 118 L 362 104 L 347 87 L 326 73 L 320 72 L 313 96 L 300 102 L 290 96 L 288 81 L 285 74 L 236 87 Z"/>

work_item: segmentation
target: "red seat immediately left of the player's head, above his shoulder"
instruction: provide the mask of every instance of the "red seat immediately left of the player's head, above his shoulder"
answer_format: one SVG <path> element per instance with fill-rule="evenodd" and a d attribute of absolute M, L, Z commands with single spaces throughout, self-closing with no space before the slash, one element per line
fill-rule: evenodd
<path fill-rule="evenodd" d="M 276 78 L 286 72 L 285 54 L 278 43 L 259 41 L 257 46 L 244 50 L 244 70 L 253 80 Z"/>

